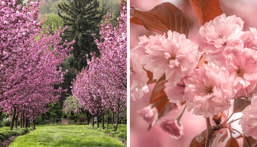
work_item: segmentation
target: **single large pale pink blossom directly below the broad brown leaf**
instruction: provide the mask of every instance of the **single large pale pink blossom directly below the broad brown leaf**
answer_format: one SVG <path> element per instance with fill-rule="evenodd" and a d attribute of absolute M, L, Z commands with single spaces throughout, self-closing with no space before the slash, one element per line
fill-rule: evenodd
<path fill-rule="evenodd" d="M 148 61 L 144 68 L 153 73 L 153 79 L 166 74 L 172 86 L 185 75 L 192 74 L 197 66 L 199 51 L 197 46 L 186 39 L 184 34 L 168 31 L 168 38 L 160 37 L 161 44 L 145 46 Z"/>

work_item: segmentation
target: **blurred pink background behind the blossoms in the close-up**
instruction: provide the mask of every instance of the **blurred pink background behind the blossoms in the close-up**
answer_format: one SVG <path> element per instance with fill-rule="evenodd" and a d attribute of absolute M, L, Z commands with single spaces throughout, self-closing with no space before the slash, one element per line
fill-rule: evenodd
<path fill-rule="evenodd" d="M 188 39 L 198 44 L 197 37 L 199 34 L 199 22 L 194 9 L 188 0 L 169 0 L 179 9 L 181 9 L 188 21 L 189 34 Z M 147 11 L 154 6 L 162 3 L 158 0 L 130 0 L 130 7 L 136 7 Z M 244 31 L 249 27 L 257 27 L 257 1 L 254 0 L 223 0 L 222 9 L 227 16 L 236 15 L 244 21 Z M 132 15 L 132 11 L 130 11 Z M 157 33 L 146 30 L 143 26 L 130 24 L 130 48 L 136 47 L 139 42 L 139 36 L 156 35 Z M 155 124 L 150 131 L 147 131 L 148 124 L 136 114 L 136 111 L 149 104 L 151 91 L 155 84 L 148 85 L 149 92 L 136 101 L 130 100 L 130 146 L 131 147 L 188 147 L 193 139 L 206 129 L 206 121 L 203 116 L 192 115 L 191 112 L 185 111 L 181 118 L 184 126 L 184 136 L 176 140 L 169 136 L 168 133 Z M 183 107 L 181 108 L 183 109 Z M 166 117 L 177 118 L 182 110 L 171 111 Z M 213 123 L 213 122 L 212 122 Z M 238 126 L 240 128 L 240 126 Z M 242 139 L 238 140 L 242 147 Z M 222 146 L 222 145 L 221 145 Z"/>

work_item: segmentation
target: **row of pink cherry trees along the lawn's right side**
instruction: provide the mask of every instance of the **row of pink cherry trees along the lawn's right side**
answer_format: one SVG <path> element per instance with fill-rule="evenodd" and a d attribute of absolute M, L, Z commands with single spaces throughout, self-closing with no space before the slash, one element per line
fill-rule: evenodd
<path fill-rule="evenodd" d="M 101 40 L 95 39 L 101 56 L 92 53 L 89 66 L 77 75 L 72 85 L 73 95 L 91 114 L 101 114 L 103 118 L 105 111 L 116 112 L 116 130 L 118 115 L 127 105 L 127 11 L 123 0 L 120 10 L 114 30 L 110 14 L 104 17 L 99 25 Z"/>

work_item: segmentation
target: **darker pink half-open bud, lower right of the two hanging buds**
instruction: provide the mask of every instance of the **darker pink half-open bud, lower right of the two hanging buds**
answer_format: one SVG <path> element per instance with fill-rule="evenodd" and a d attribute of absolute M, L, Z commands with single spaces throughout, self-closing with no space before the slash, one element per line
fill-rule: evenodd
<path fill-rule="evenodd" d="M 179 139 L 184 135 L 184 127 L 177 119 L 158 120 L 157 125 L 168 132 L 171 138 Z"/>

